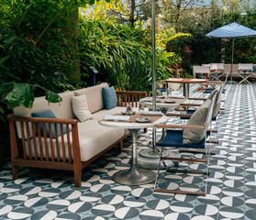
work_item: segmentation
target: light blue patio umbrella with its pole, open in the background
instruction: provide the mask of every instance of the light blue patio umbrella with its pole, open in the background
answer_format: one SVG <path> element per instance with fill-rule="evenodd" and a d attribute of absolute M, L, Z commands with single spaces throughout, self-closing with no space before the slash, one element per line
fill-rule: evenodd
<path fill-rule="evenodd" d="M 256 36 L 256 31 L 250 28 L 246 28 L 233 22 L 227 26 L 217 28 L 210 33 L 206 34 L 209 38 L 233 38 L 232 44 L 232 63 L 231 63 L 231 81 L 233 73 L 233 60 L 234 60 L 234 39 L 235 38 L 249 38 Z"/>

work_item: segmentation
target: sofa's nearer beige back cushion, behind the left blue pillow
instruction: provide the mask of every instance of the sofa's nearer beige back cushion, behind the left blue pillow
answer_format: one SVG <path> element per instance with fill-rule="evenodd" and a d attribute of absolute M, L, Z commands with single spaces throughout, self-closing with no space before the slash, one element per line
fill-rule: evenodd
<path fill-rule="evenodd" d="M 74 93 L 71 91 L 65 93 L 59 93 L 62 98 L 61 103 L 50 103 L 48 104 L 47 100 L 45 100 L 45 96 L 41 96 L 35 99 L 33 103 L 33 107 L 26 108 L 24 106 L 18 106 L 13 109 L 14 115 L 16 116 L 27 116 L 31 117 L 31 113 L 35 112 L 42 112 L 45 110 L 51 110 L 54 115 L 58 118 L 68 118 L 73 119 L 75 116 L 72 113 L 72 96 Z M 24 125 L 24 133 L 25 138 L 28 138 L 27 129 Z M 21 138 L 21 128 L 19 122 L 17 122 L 17 135 Z M 31 124 L 29 123 L 29 137 L 32 137 L 32 128 Z"/>

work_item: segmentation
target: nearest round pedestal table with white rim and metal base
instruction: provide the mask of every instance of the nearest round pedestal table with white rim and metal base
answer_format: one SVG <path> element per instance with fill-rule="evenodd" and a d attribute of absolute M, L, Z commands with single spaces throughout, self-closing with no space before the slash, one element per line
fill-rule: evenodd
<path fill-rule="evenodd" d="M 146 117 L 146 115 L 143 115 Z M 147 115 L 150 117 L 150 115 Z M 126 128 L 132 137 L 132 162 L 131 166 L 127 170 L 119 170 L 113 176 L 113 181 L 124 185 L 141 185 L 154 181 L 156 179 L 156 174 L 152 170 L 140 169 L 137 161 L 137 140 L 138 133 L 141 128 L 153 127 L 158 123 L 167 122 L 167 116 L 160 116 L 158 120 L 153 123 L 134 123 L 134 122 L 116 122 L 116 121 L 106 121 L 99 120 L 99 124 L 103 126 Z"/>

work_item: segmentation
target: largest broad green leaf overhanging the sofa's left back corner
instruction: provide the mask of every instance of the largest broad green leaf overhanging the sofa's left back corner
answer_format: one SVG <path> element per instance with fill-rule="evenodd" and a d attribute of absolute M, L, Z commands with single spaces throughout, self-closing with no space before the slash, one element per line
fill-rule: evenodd
<path fill-rule="evenodd" d="M 26 83 L 17 83 L 14 85 L 12 92 L 6 95 L 7 107 L 12 109 L 19 105 L 31 108 L 34 97 L 35 85 Z"/>

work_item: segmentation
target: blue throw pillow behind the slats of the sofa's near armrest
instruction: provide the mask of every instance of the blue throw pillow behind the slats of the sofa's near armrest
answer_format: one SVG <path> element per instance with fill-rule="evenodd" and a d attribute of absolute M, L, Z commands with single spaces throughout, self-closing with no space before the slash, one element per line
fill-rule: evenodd
<path fill-rule="evenodd" d="M 57 118 L 57 116 L 54 115 L 54 113 L 51 112 L 51 110 L 32 113 L 31 115 L 32 115 L 32 117 Z M 52 138 L 56 138 L 54 124 L 50 124 L 50 126 L 51 126 Z M 66 126 L 62 125 L 62 127 L 63 127 L 63 134 L 66 134 L 67 133 Z M 50 130 L 49 130 L 49 124 L 48 123 L 45 124 L 45 129 L 46 129 L 46 136 L 50 137 Z M 71 131 L 71 129 L 70 129 L 70 131 Z M 42 123 L 40 123 L 40 132 L 43 135 L 43 124 Z M 61 136 L 61 125 L 60 124 L 57 124 L 57 132 L 58 132 L 57 137 Z M 38 129 L 37 129 L 37 126 L 36 126 L 36 134 L 37 133 L 38 133 Z"/>

